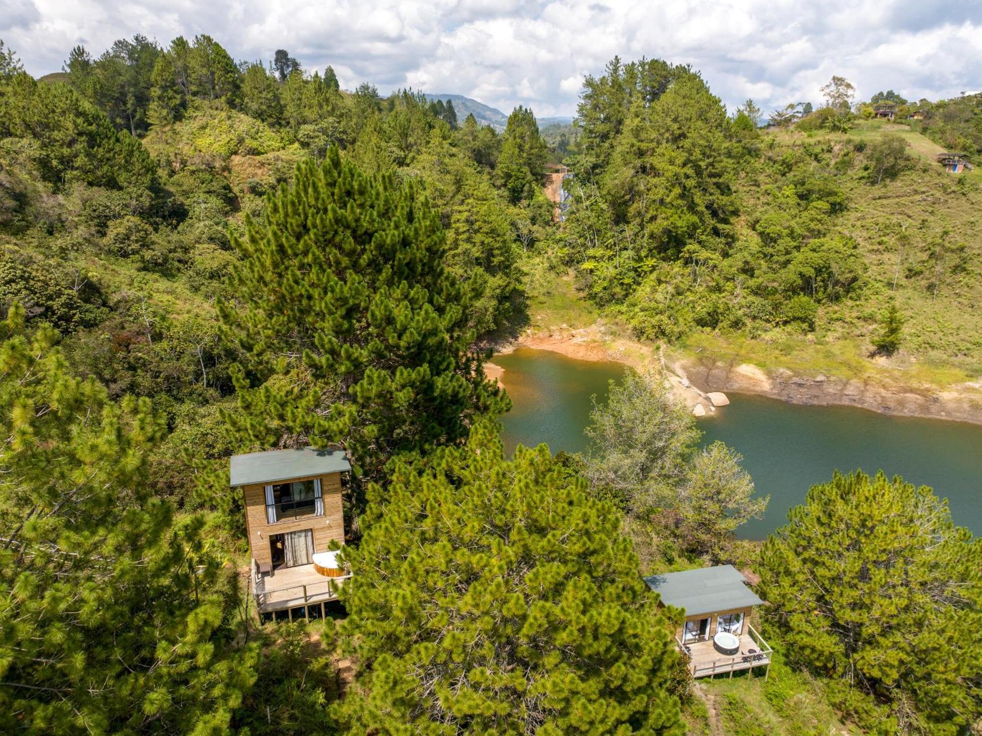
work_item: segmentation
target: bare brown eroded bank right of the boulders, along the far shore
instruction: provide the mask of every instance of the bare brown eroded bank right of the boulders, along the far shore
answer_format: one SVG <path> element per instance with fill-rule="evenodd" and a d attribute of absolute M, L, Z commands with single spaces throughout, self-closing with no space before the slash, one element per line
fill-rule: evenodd
<path fill-rule="evenodd" d="M 706 358 L 680 361 L 677 373 L 703 392 L 761 394 L 798 404 L 859 406 L 898 416 L 954 419 L 982 424 L 982 382 L 958 384 L 944 391 L 882 384 L 830 376 L 796 376 L 788 370 L 765 372 L 748 363 Z"/>

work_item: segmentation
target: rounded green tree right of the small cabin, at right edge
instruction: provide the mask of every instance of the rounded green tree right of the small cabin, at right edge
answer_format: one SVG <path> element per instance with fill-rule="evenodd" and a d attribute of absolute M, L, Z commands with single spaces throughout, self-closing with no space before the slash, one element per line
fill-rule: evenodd
<path fill-rule="evenodd" d="M 761 590 L 786 651 L 903 730 L 964 733 L 982 714 L 982 544 L 948 504 L 881 471 L 813 486 L 761 550 Z M 899 725 L 895 721 L 894 727 Z M 881 728 L 883 724 L 881 724 Z"/>

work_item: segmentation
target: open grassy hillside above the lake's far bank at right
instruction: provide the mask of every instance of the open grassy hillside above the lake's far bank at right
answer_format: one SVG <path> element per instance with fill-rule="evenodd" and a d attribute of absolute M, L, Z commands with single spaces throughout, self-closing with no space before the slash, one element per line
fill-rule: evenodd
<path fill-rule="evenodd" d="M 873 184 L 863 151 L 885 133 L 908 143 L 909 161 L 895 180 Z M 773 133 L 777 151 L 828 151 L 846 194 L 832 232 L 855 238 L 866 264 L 862 288 L 822 308 L 812 334 L 775 330 L 762 335 L 696 333 L 684 345 L 725 359 L 789 368 L 795 373 L 847 377 L 883 372 L 901 380 L 946 386 L 982 375 L 982 187 L 978 171 L 946 173 L 940 147 L 905 126 L 864 122 L 848 133 Z M 761 204 L 760 175 L 740 180 L 743 218 Z M 906 324 L 900 353 L 870 356 L 870 339 L 884 305 L 896 298 Z"/>

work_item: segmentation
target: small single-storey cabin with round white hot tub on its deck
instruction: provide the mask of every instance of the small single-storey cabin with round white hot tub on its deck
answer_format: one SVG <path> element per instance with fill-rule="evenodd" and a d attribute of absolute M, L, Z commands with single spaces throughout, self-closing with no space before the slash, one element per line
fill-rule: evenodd
<path fill-rule="evenodd" d="M 681 608 L 676 644 L 688 659 L 692 677 L 707 677 L 766 666 L 771 648 L 750 625 L 750 614 L 763 601 L 746 585 L 733 565 L 652 575 L 644 579 L 661 605 Z"/>

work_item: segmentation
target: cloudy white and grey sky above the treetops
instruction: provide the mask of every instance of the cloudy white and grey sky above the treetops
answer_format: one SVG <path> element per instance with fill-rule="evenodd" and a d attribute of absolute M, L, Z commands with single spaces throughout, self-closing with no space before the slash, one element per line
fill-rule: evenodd
<path fill-rule="evenodd" d="M 69 50 L 143 33 L 210 33 L 237 59 L 286 48 L 342 85 L 456 92 L 508 112 L 573 115 L 580 81 L 620 55 L 701 70 L 733 110 L 818 101 L 833 74 L 860 98 L 982 87 L 982 0 L 0 0 L 0 38 L 34 76 Z"/>

